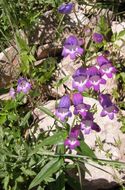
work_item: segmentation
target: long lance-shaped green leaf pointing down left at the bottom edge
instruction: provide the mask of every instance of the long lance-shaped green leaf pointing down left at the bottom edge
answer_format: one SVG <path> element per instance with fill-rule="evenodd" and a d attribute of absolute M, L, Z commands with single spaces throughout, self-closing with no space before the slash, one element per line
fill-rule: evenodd
<path fill-rule="evenodd" d="M 48 177 L 51 177 L 52 174 L 54 174 L 60 169 L 62 164 L 63 164 L 62 159 L 59 159 L 59 158 L 53 158 L 51 161 L 49 161 L 41 169 L 38 175 L 33 179 L 33 181 L 31 182 L 29 186 L 29 189 L 32 189 L 33 187 L 39 185 L 42 181 L 44 181 Z"/>

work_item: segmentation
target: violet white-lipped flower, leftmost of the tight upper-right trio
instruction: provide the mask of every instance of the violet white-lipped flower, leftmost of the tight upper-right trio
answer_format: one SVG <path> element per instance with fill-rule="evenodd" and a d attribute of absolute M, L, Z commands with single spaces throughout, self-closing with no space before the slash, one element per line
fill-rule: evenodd
<path fill-rule="evenodd" d="M 88 76 L 86 68 L 80 67 L 76 70 L 73 75 L 72 87 L 79 92 L 83 92 L 86 89 L 86 84 L 88 82 Z"/>

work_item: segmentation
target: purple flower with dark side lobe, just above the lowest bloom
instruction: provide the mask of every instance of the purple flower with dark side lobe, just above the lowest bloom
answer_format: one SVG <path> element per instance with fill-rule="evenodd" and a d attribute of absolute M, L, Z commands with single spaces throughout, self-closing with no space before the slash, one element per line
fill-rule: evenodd
<path fill-rule="evenodd" d="M 89 134 L 92 130 L 100 132 L 100 127 L 95 123 L 92 113 L 87 112 L 86 116 L 81 122 L 81 130 L 84 134 Z"/>

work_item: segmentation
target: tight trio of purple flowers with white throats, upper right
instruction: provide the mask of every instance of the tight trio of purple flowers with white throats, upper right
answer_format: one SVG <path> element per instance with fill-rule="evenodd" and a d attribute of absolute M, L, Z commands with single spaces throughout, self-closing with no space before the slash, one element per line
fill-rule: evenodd
<path fill-rule="evenodd" d="M 73 89 L 83 92 L 87 89 L 93 88 L 95 91 L 100 91 L 100 85 L 106 84 L 106 75 L 108 78 L 112 78 L 116 73 L 115 67 L 112 66 L 110 60 L 103 55 L 97 57 L 98 67 L 92 66 L 88 68 L 78 68 L 73 77 L 72 87 Z"/>

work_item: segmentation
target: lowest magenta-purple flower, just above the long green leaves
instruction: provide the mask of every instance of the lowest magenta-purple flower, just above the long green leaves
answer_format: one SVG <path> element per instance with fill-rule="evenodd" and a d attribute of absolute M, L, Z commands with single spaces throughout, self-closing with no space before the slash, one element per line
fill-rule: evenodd
<path fill-rule="evenodd" d="M 76 125 L 71 129 L 69 137 L 67 137 L 67 139 L 65 140 L 64 145 L 68 146 L 71 150 L 75 149 L 77 146 L 80 146 L 80 142 L 78 140 L 79 133 L 79 125 Z"/>

